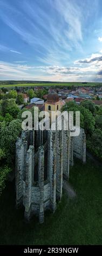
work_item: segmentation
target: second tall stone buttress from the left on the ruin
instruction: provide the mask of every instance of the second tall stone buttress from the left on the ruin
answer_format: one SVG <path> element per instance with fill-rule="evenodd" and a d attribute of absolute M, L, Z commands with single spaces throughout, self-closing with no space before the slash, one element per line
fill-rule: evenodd
<path fill-rule="evenodd" d="M 31 217 L 31 188 L 32 188 L 32 172 L 34 164 L 33 161 L 34 148 L 30 146 L 26 155 L 26 170 L 25 170 L 25 218 L 30 220 Z"/>

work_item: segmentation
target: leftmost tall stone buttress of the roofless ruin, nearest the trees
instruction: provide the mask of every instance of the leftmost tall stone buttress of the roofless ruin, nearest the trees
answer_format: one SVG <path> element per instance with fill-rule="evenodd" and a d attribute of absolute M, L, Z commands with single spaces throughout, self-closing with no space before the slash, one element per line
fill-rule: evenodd
<path fill-rule="evenodd" d="M 25 158 L 27 151 L 27 142 L 22 143 L 22 139 L 16 142 L 16 206 L 23 205 L 23 179 L 25 170 Z"/>

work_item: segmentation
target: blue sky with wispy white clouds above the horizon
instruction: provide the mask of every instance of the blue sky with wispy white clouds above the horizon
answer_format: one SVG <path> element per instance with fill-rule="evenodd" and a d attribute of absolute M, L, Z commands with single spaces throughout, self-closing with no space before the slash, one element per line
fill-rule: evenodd
<path fill-rule="evenodd" d="M 102 82 L 101 0 L 0 0 L 0 80 Z"/>

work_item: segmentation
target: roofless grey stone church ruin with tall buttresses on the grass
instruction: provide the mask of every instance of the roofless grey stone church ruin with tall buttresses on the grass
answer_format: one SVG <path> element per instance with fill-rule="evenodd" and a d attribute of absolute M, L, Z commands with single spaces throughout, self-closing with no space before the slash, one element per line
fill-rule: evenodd
<path fill-rule="evenodd" d="M 69 131 L 22 131 L 16 142 L 16 206 L 24 206 L 25 219 L 32 215 L 44 222 L 44 211 L 56 210 L 63 181 L 68 181 L 73 156 L 86 161 L 86 136 L 70 137 Z"/>

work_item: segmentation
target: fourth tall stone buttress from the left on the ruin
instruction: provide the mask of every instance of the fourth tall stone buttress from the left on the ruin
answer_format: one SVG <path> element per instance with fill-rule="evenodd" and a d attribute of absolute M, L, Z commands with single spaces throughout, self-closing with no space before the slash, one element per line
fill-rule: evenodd
<path fill-rule="evenodd" d="M 47 152 L 48 162 L 47 169 L 51 186 L 50 205 L 53 212 L 56 210 L 56 131 L 48 131 Z"/>

